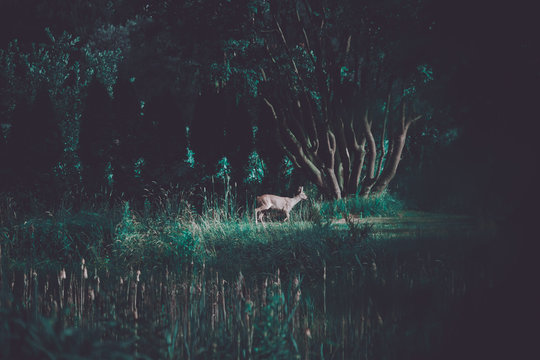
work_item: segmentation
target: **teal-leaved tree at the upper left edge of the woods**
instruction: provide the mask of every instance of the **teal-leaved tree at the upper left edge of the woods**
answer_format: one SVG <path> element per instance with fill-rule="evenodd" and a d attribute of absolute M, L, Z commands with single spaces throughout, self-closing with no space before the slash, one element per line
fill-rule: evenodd
<path fill-rule="evenodd" d="M 51 30 L 45 31 L 46 43 L 30 45 L 14 39 L 0 49 L 0 78 L 6 84 L 0 87 L 0 111 L 11 119 L 15 107 L 32 103 L 38 89 L 46 84 L 65 149 L 59 174 L 72 180 L 78 172 L 75 150 L 81 100 L 93 78 L 98 78 L 112 92 L 122 55 L 118 49 L 93 48 L 68 32 L 55 36 Z"/>

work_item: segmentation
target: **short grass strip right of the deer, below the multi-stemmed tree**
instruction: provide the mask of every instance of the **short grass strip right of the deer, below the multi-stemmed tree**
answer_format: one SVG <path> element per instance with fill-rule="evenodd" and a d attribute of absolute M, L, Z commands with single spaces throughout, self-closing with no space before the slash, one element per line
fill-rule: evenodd
<path fill-rule="evenodd" d="M 397 216 L 364 217 L 351 215 L 355 224 L 371 227 L 374 235 L 378 236 L 409 236 L 432 235 L 456 231 L 487 230 L 494 224 L 488 224 L 469 215 L 430 213 L 424 211 L 405 210 Z M 346 226 L 345 219 L 334 221 L 335 224 Z"/>

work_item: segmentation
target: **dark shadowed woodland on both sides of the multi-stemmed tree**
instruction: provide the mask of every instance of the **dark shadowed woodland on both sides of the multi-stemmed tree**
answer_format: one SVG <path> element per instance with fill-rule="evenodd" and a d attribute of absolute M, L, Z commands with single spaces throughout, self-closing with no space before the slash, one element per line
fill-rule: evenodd
<path fill-rule="evenodd" d="M 55 203 L 65 192 L 84 193 L 86 197 L 103 192 L 109 186 L 102 176 L 106 163 L 95 151 L 109 146 L 102 142 L 120 144 L 107 154 L 112 164 L 119 164 L 115 181 L 125 191 L 115 194 L 118 198 L 137 198 L 158 185 L 210 187 L 216 163 L 223 155 L 233 169 L 231 182 L 245 191 L 290 193 L 306 182 L 298 171 L 289 177 L 284 175 L 283 154 L 272 138 L 268 114 L 260 111 L 259 98 L 239 96 L 246 90 L 233 81 L 222 87 L 219 96 L 208 90 L 214 86 L 211 65 L 223 57 L 224 43 L 247 31 L 245 14 L 235 8 L 245 4 L 226 7 L 227 3 L 1 0 L 0 48 L 4 55 L 15 39 L 21 53 L 31 53 L 32 44 L 50 43 L 45 28 L 57 39 L 64 31 L 80 37 L 72 60 L 83 63 L 83 55 L 89 51 L 119 50 L 124 55 L 115 63 L 117 81 L 106 72 L 88 76 L 80 94 L 70 98 L 80 102 L 82 114 L 78 119 L 79 144 L 71 149 L 77 154 L 74 158 L 57 145 L 63 142 L 65 146 L 69 141 L 66 134 L 72 134 L 67 131 L 69 126 L 78 125 L 60 121 L 54 130 L 53 123 L 35 121 L 54 119 L 47 113 L 52 108 L 57 112 L 65 109 L 54 109 L 47 103 L 44 84 L 36 82 L 23 88 L 24 82 L 10 82 L 26 75 L 5 75 L 10 64 L 5 60 L 7 55 L 2 58 L 2 190 L 19 197 L 22 207 L 32 197 L 29 194 L 39 193 L 43 202 Z M 431 123 L 421 122 L 411 130 L 391 190 L 411 207 L 489 215 L 506 224 L 505 236 L 515 240 L 520 256 L 510 264 L 512 271 L 505 286 L 486 296 L 484 311 L 471 313 L 464 304 L 464 315 L 456 319 L 456 329 L 464 329 L 457 335 L 463 346 L 457 346 L 448 358 L 462 357 L 461 351 L 466 348 L 477 358 L 486 354 L 520 357 L 529 350 L 527 344 L 534 343 L 533 332 L 522 332 L 517 338 L 499 329 L 534 324 L 536 316 L 529 311 L 536 306 L 536 297 L 528 290 L 535 287 L 534 274 L 538 273 L 537 231 L 531 226 L 537 220 L 539 183 L 536 13 L 527 2 L 411 3 L 420 4 L 420 19 L 432 24 L 431 30 L 422 34 L 420 48 L 421 57 L 437 75 L 431 91 L 438 115 Z M 184 5 L 189 11 L 183 12 Z M 371 6 L 377 9 L 377 5 Z M 90 50 L 83 49 L 86 45 Z M 112 62 L 105 60 L 103 69 Z M 27 71 L 24 65 L 15 69 Z M 68 79 L 66 84 L 77 81 Z M 103 83 L 122 95 L 111 100 Z M 33 105 L 27 105 L 31 99 L 35 99 Z M 145 102 L 145 116 L 138 117 L 140 123 L 122 123 L 122 119 L 137 117 L 141 100 Z M 190 125 L 189 137 L 185 126 L 174 121 L 177 118 Z M 85 124 L 90 124 L 87 129 Z M 258 126 L 259 137 L 251 141 L 253 124 Z M 432 132 L 434 135 L 426 140 L 421 136 L 425 129 L 438 132 Z M 457 135 L 451 141 L 442 141 L 450 130 Z M 50 143 L 42 141 L 45 134 Z M 196 155 L 194 170 L 185 165 L 185 153 L 178 146 L 188 143 Z M 244 182 L 242 172 L 246 155 L 253 150 L 265 160 L 269 174 L 255 185 Z M 136 180 L 126 174 L 133 173 L 129 166 L 141 156 L 147 167 Z M 52 172 L 58 159 L 65 164 L 64 170 Z M 82 178 L 73 170 L 78 161 L 86 164 Z M 125 168 L 125 164 L 131 165 Z M 96 173 L 101 176 L 92 178 Z M 222 191 L 218 185 L 215 190 Z M 490 353 L 491 344 L 497 342 L 506 342 L 508 353 Z"/>

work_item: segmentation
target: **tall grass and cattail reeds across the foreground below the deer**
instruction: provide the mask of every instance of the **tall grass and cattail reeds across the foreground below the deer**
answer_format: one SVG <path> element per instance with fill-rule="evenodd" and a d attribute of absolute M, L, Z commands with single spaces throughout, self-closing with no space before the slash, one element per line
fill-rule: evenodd
<path fill-rule="evenodd" d="M 504 263 L 493 238 L 459 229 L 389 238 L 351 216 L 263 227 L 207 214 L 125 205 L 5 227 L 0 301 L 19 310 L 4 323 L 28 324 L 2 327 L 6 356 L 28 332 L 80 331 L 150 358 L 436 358 L 459 304 L 480 303 Z M 58 319 L 53 333 L 37 313 Z"/>

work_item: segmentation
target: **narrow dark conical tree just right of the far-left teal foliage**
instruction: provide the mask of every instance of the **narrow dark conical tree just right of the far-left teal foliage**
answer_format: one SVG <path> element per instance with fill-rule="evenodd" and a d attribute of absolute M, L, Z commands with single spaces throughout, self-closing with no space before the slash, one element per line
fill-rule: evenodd
<path fill-rule="evenodd" d="M 82 180 L 88 194 L 107 187 L 106 169 L 110 163 L 112 136 L 111 98 L 106 88 L 93 80 L 80 121 L 79 158 Z"/>

